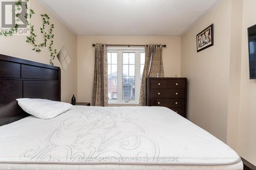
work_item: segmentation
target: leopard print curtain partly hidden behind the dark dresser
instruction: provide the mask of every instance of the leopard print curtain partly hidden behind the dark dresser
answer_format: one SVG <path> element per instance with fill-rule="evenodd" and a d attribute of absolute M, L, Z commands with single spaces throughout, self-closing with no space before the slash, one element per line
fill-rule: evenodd
<path fill-rule="evenodd" d="M 146 106 L 146 79 L 148 77 L 164 77 L 162 45 L 145 46 L 145 65 L 140 85 L 140 106 Z"/>

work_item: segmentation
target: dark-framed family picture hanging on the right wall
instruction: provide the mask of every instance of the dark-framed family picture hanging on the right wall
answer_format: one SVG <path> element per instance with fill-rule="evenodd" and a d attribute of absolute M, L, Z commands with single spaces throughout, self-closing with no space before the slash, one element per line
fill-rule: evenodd
<path fill-rule="evenodd" d="M 197 52 L 214 45 L 214 25 L 210 25 L 197 34 Z"/>

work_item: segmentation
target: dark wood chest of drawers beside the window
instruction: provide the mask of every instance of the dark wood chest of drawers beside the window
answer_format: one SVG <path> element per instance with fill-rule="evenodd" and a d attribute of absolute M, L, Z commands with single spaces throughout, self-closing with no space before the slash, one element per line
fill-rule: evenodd
<path fill-rule="evenodd" d="M 147 78 L 147 106 L 163 106 L 186 117 L 186 78 Z"/>

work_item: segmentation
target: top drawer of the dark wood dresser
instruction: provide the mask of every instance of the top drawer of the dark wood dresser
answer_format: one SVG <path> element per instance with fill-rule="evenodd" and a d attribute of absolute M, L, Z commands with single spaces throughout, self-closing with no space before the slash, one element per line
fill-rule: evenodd
<path fill-rule="evenodd" d="M 184 89 L 185 80 L 167 80 L 167 79 L 152 79 L 150 80 L 150 86 L 152 89 Z"/>

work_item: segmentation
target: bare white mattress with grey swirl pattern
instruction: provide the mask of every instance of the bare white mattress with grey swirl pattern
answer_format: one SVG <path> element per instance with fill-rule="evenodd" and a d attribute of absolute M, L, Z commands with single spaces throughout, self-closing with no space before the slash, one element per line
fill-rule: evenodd
<path fill-rule="evenodd" d="M 164 107 L 76 106 L 0 127 L 0 169 L 243 169 L 225 143 Z"/>

